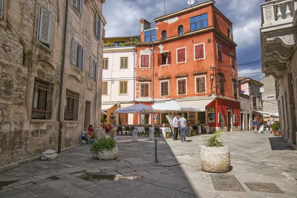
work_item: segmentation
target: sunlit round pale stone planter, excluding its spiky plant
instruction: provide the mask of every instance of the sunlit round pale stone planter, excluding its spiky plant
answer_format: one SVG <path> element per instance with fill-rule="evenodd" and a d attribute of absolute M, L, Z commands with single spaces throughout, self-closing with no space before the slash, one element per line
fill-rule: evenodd
<path fill-rule="evenodd" d="M 230 171 L 229 147 L 201 147 L 201 169 L 210 173 Z"/>

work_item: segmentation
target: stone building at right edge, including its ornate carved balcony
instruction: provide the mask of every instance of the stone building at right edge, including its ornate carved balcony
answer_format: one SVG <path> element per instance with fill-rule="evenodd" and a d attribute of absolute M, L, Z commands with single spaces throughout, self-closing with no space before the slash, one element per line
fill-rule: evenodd
<path fill-rule="evenodd" d="M 297 0 L 265 0 L 261 11 L 262 71 L 276 80 L 281 135 L 297 148 Z"/>

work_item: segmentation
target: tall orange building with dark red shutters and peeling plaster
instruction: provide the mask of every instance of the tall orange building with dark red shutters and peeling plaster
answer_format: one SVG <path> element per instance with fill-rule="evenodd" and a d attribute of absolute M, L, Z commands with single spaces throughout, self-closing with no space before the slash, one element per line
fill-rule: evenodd
<path fill-rule="evenodd" d="M 155 18 L 154 27 L 140 20 L 136 102 L 175 99 L 200 109 L 186 114 L 193 124 L 208 124 L 211 132 L 240 131 L 237 45 L 231 21 L 214 4 L 211 0 Z M 165 120 L 164 115 L 153 117 L 151 122 Z"/>

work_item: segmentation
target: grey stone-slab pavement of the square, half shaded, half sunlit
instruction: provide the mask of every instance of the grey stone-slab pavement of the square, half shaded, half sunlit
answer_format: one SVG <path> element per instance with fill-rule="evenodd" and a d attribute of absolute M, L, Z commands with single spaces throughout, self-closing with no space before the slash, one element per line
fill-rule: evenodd
<path fill-rule="evenodd" d="M 154 141 L 143 136 L 138 142 L 118 136 L 119 158 L 109 161 L 94 159 L 88 145 L 68 148 L 55 160 L 33 161 L 0 174 L 0 198 L 297 198 L 297 151 L 281 137 L 269 132 L 224 133 L 232 170 L 220 176 L 238 181 L 217 186 L 231 191 L 215 191 L 210 175 L 216 174 L 200 169 L 200 146 L 206 136 L 187 138 L 192 140 L 188 143 L 158 139 L 158 163 Z M 79 178 L 83 172 L 142 177 L 91 182 Z M 10 181 L 16 182 L 4 186 Z M 255 190 L 266 192 L 251 191 L 246 182 L 260 183 Z M 263 183 L 276 186 L 270 189 Z M 236 185 L 246 192 L 234 192 Z M 271 190 L 278 193 L 267 193 Z"/>

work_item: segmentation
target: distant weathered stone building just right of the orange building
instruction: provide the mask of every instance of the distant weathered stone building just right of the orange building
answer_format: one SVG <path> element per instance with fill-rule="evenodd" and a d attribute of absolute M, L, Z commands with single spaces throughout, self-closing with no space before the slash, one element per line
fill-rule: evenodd
<path fill-rule="evenodd" d="M 260 92 L 262 86 L 262 83 L 251 78 L 238 78 L 240 119 L 243 122 L 241 130 L 251 130 L 253 118 L 258 120 L 263 113 L 262 93 Z"/>

